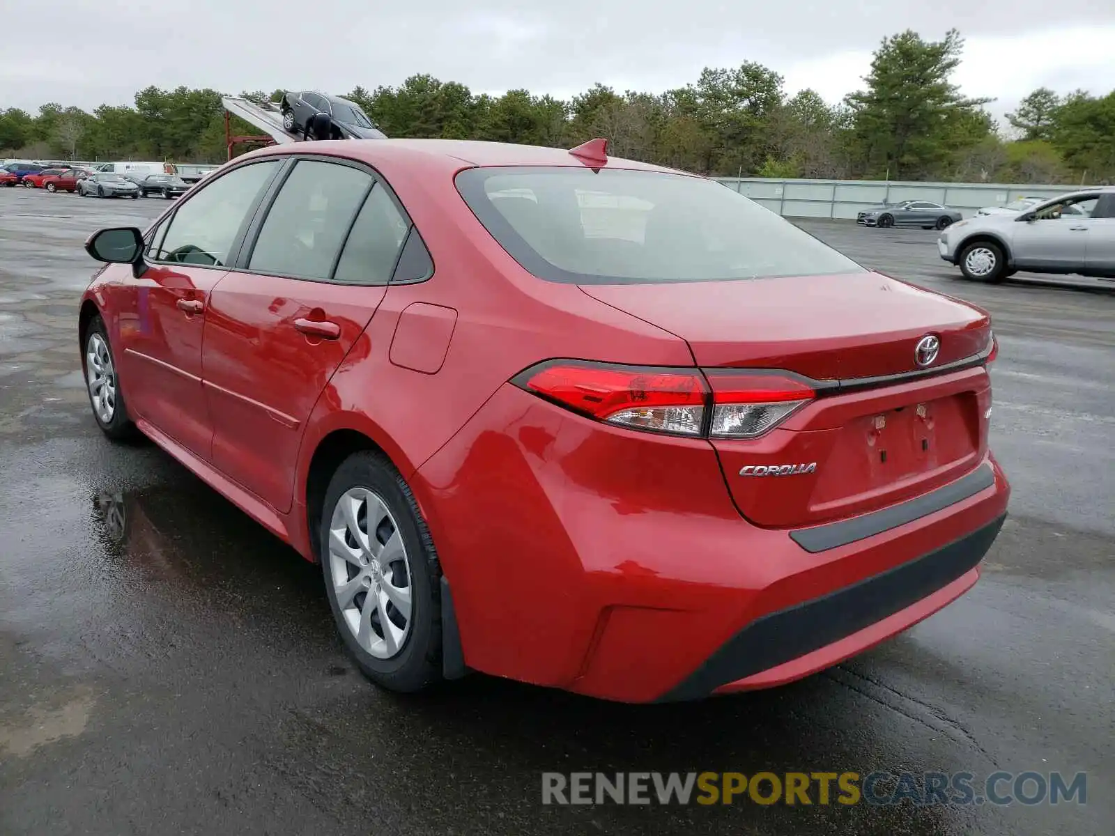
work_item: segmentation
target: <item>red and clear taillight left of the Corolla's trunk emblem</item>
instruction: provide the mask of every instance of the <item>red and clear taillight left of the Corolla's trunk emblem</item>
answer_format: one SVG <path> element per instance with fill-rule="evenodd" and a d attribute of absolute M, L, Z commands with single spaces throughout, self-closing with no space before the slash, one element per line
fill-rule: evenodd
<path fill-rule="evenodd" d="M 597 420 L 712 438 L 757 438 L 815 396 L 812 387 L 780 372 L 575 360 L 542 363 L 513 382 Z"/>

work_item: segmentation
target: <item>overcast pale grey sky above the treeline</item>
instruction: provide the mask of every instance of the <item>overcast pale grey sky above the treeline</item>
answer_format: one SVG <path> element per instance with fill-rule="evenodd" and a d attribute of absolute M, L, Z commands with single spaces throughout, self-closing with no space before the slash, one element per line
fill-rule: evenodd
<path fill-rule="evenodd" d="M 1045 85 L 1115 88 L 1115 0 L 4 0 L 0 109 L 133 104 L 148 85 L 223 93 L 397 85 L 569 97 L 595 81 L 661 91 L 759 61 L 837 101 L 911 28 L 967 38 L 956 81 L 996 115 Z M 36 37 L 36 29 L 42 33 Z M 57 37 L 48 35 L 54 31 Z"/>

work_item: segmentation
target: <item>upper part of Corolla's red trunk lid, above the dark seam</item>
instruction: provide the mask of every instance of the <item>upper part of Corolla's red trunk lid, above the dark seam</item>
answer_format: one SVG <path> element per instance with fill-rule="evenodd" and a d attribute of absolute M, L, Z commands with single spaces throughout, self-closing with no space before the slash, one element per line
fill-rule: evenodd
<path fill-rule="evenodd" d="M 698 366 L 818 379 L 914 371 L 928 333 L 941 339 L 933 366 L 953 362 L 978 353 L 990 327 L 969 304 L 873 272 L 581 289 L 686 340 Z"/>

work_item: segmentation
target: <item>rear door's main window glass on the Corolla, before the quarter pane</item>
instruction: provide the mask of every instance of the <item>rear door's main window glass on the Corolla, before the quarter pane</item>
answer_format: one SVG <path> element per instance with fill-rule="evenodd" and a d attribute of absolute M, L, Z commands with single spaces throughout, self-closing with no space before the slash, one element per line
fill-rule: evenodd
<path fill-rule="evenodd" d="M 326 281 L 372 178 L 336 163 L 300 159 L 260 227 L 248 269 Z"/>

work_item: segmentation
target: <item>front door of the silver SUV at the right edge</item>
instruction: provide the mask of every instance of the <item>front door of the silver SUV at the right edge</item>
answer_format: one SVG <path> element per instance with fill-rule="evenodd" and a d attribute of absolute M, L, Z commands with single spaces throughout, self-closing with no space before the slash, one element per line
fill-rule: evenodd
<path fill-rule="evenodd" d="M 1076 195 L 1046 206 L 1032 220 L 1016 220 L 1010 241 L 1015 266 L 1058 273 L 1083 270 L 1088 216 L 1096 202 L 1096 195 Z"/>

